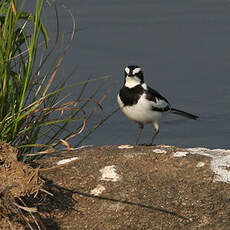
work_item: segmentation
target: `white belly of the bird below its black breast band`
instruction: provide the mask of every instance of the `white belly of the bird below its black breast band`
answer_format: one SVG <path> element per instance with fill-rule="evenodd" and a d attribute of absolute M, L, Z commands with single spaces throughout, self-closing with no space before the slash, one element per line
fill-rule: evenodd
<path fill-rule="evenodd" d="M 146 100 L 145 95 L 142 95 L 138 103 L 132 106 L 124 106 L 119 95 L 117 97 L 118 104 L 122 112 L 130 119 L 140 123 L 158 122 L 162 113 L 152 110 L 152 102 Z"/>

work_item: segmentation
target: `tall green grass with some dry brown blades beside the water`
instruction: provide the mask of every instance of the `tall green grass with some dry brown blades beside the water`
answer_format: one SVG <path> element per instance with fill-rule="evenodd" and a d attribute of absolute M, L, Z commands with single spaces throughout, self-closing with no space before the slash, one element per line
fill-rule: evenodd
<path fill-rule="evenodd" d="M 80 136 L 95 108 L 103 113 L 101 104 L 106 96 L 96 101 L 95 91 L 91 97 L 84 98 L 87 84 L 99 79 L 71 86 L 65 80 L 57 82 L 56 75 L 74 39 L 76 25 L 67 10 L 72 19 L 72 34 L 68 44 L 53 58 L 60 38 L 59 18 L 56 17 L 56 41 L 50 48 L 48 31 L 41 20 L 45 3 L 44 0 L 37 0 L 32 14 L 23 10 L 26 1 L 0 2 L 0 141 L 17 146 L 19 159 L 35 151 L 55 151 L 59 145 L 68 147 L 68 141 L 73 137 L 77 137 L 80 144 L 109 117 L 103 118 L 87 134 Z M 54 9 L 58 15 L 56 6 Z M 28 26 L 33 28 L 30 33 Z M 38 53 L 43 53 L 41 60 Z M 51 57 L 55 62 L 45 69 L 45 63 L 50 62 Z M 105 76 L 100 80 L 107 78 Z M 78 98 L 63 99 L 64 92 L 71 87 L 77 87 Z M 85 109 L 92 102 L 95 106 L 87 114 Z M 69 130 L 70 123 L 74 123 L 76 128 Z"/>

